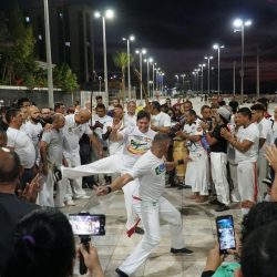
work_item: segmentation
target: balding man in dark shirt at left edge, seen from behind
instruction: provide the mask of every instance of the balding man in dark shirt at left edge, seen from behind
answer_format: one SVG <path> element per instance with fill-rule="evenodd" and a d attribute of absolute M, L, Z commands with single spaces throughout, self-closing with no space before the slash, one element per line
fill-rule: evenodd
<path fill-rule="evenodd" d="M 16 224 L 39 206 L 20 199 L 14 194 L 19 184 L 21 165 L 16 152 L 0 147 L 0 275 L 13 245 Z"/>

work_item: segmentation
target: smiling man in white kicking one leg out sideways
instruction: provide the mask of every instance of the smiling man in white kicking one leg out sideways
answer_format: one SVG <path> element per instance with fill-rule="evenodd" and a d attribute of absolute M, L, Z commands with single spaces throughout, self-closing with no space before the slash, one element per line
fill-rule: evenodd
<path fill-rule="evenodd" d="M 99 173 L 123 174 L 132 168 L 137 158 L 150 150 L 155 135 L 155 132 L 150 130 L 150 114 L 145 111 L 140 111 L 137 113 L 135 127 L 124 129 L 119 132 L 120 127 L 121 123 L 113 126 L 110 136 L 111 141 L 123 142 L 123 147 L 120 152 L 94 163 L 78 166 L 75 168 L 62 167 L 62 175 L 68 178 L 76 178 Z M 138 181 L 135 179 L 124 188 L 127 212 L 127 230 L 132 229 L 136 219 L 133 215 L 132 202 L 133 193 L 137 185 Z"/>

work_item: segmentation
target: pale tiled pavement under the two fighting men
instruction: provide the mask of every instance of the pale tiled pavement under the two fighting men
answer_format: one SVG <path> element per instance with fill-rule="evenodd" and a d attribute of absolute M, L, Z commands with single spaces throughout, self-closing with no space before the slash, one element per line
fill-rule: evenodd
<path fill-rule="evenodd" d="M 89 211 L 95 214 L 106 215 L 106 235 L 93 237 L 92 243 L 99 250 L 99 256 L 106 277 L 117 276 L 114 269 L 131 254 L 142 238 L 141 235 L 133 235 L 129 238 L 125 234 L 125 206 L 123 193 L 98 197 L 94 191 L 89 201 L 76 201 L 76 206 L 62 208 L 64 213 L 79 213 Z M 184 276 L 196 277 L 205 266 L 207 252 L 216 240 L 215 216 L 219 215 L 207 204 L 195 204 L 186 197 L 189 191 L 166 188 L 165 197 L 173 203 L 181 212 L 184 224 L 184 236 L 187 248 L 194 250 L 193 256 L 175 256 L 170 253 L 170 225 L 161 223 L 161 244 L 154 249 L 150 258 L 132 275 L 147 277 Z M 235 222 L 239 222 L 239 211 L 230 209 L 222 214 L 233 214 Z M 78 269 L 75 268 L 75 276 Z"/>

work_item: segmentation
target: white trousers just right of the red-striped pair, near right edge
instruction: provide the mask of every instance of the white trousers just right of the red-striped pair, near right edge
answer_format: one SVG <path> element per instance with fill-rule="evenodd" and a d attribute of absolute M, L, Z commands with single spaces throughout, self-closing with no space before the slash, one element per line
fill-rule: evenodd
<path fill-rule="evenodd" d="M 267 186 L 263 183 L 263 179 L 268 177 L 269 166 L 268 162 L 265 157 L 265 154 L 260 153 L 258 155 L 258 202 L 264 201 L 265 195 L 267 193 Z"/>

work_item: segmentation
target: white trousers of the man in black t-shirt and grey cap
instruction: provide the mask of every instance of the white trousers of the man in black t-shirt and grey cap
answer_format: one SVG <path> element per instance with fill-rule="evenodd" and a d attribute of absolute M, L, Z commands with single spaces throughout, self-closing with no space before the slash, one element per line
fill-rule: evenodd
<path fill-rule="evenodd" d="M 227 181 L 227 154 L 223 152 L 211 153 L 212 178 L 215 184 L 217 199 L 229 205 L 229 184 Z"/>

